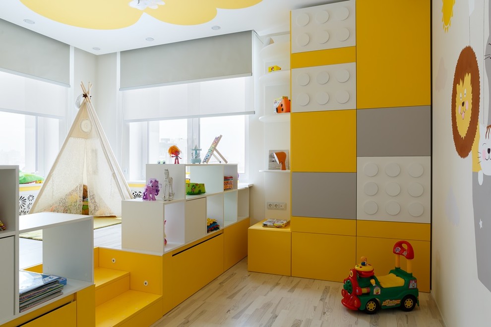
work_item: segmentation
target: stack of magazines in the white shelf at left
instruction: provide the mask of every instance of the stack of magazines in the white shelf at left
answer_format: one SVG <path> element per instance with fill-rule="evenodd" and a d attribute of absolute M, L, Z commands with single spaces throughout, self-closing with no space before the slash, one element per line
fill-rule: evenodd
<path fill-rule="evenodd" d="M 62 294 L 66 278 L 19 271 L 19 311 L 23 312 Z"/>

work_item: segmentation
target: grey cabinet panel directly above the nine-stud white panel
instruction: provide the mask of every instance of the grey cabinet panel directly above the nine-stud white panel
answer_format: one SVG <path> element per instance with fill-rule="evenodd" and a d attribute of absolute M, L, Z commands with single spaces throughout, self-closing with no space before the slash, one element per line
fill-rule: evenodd
<path fill-rule="evenodd" d="M 431 107 L 357 110 L 357 157 L 431 155 Z"/>

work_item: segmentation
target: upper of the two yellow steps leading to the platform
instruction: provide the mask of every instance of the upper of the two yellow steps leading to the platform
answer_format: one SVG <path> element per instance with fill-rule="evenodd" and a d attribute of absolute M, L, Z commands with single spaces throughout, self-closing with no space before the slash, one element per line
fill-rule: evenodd
<path fill-rule="evenodd" d="M 98 267 L 94 269 L 94 282 L 98 306 L 129 290 L 129 272 Z"/>

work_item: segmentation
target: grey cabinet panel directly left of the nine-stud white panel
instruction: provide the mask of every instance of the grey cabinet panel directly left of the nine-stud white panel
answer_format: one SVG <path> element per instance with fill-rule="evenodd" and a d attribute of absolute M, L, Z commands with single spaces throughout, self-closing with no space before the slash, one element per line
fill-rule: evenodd
<path fill-rule="evenodd" d="M 292 216 L 356 219 L 356 172 L 292 173 Z"/>

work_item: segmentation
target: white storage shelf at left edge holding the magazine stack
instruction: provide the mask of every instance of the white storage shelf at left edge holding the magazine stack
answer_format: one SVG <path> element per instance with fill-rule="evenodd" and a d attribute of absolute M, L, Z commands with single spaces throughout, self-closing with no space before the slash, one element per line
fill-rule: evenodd
<path fill-rule="evenodd" d="M 19 312 L 19 234 L 43 230 L 43 273 L 66 277 L 63 296 L 94 284 L 94 222 L 92 216 L 38 213 L 19 217 L 19 168 L 0 165 L 0 325 L 27 315 L 59 297 Z"/>

